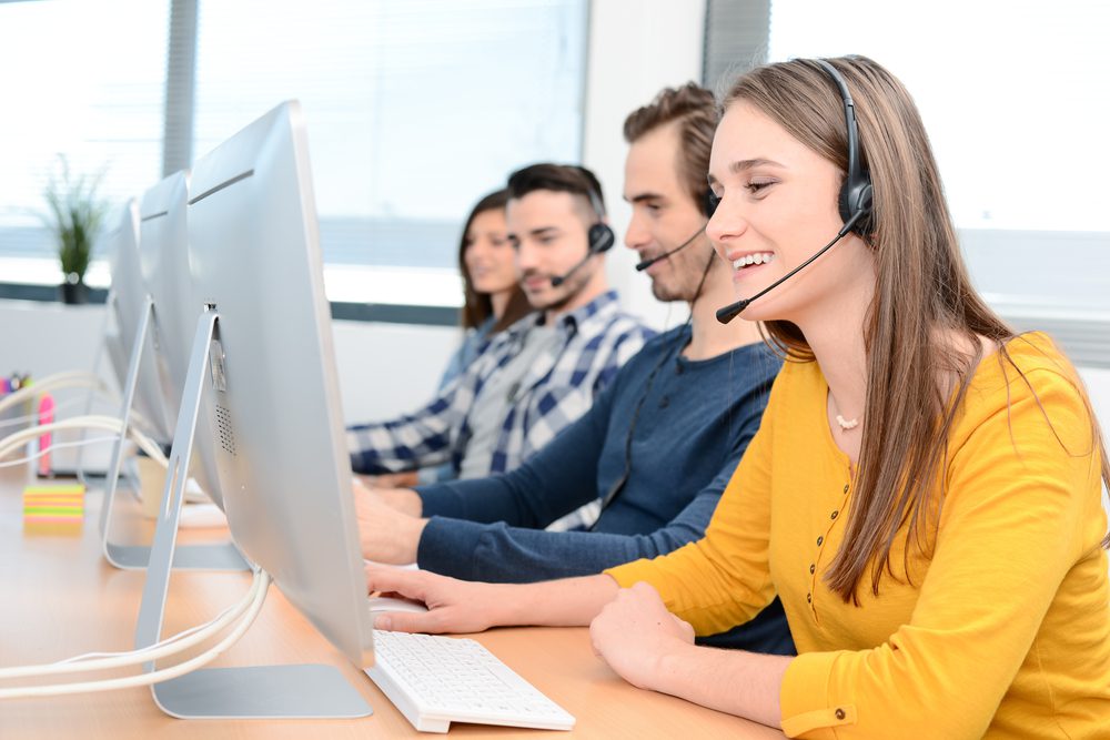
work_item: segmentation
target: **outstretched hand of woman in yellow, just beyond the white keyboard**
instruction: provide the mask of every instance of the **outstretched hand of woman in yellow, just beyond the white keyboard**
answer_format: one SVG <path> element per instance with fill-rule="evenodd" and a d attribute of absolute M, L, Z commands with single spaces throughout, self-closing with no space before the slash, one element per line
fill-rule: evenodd
<path fill-rule="evenodd" d="M 426 570 L 398 570 L 366 566 L 367 594 L 394 592 L 423 601 L 424 614 L 380 612 L 374 615 L 374 628 L 396 632 L 481 632 L 490 629 L 497 600 L 492 594 L 497 586 L 457 580 Z"/>

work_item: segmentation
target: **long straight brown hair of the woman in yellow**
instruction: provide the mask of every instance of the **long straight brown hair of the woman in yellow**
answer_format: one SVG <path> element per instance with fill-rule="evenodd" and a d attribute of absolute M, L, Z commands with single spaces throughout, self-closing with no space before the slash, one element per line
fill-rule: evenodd
<path fill-rule="evenodd" d="M 971 285 L 932 149 L 909 93 L 869 59 L 829 62 L 851 92 L 862 164 L 875 189 L 872 233 L 866 240 L 874 250 L 877 280 L 864 326 L 864 436 L 844 545 L 826 575 L 829 588 L 850 601 L 857 600 L 868 571 L 876 595 L 882 571 L 894 575 L 891 546 L 907 523 L 908 537 L 926 550 L 931 548 L 944 499 L 937 481 L 942 479 L 949 433 L 982 358 L 979 337 L 999 347 L 998 362 L 1021 371 L 1006 351 L 1013 332 Z M 749 72 L 736 82 L 724 105 L 739 100 L 847 171 L 840 93 L 813 60 Z M 769 342 L 788 359 L 814 359 L 796 325 L 768 322 L 766 326 Z M 952 336 L 962 342 L 953 346 Z M 946 384 L 945 378 L 952 377 L 955 383 Z M 1106 445 L 1086 403 L 1102 480 L 1110 486 Z M 1103 547 L 1108 545 L 1110 537 L 1103 540 Z"/>

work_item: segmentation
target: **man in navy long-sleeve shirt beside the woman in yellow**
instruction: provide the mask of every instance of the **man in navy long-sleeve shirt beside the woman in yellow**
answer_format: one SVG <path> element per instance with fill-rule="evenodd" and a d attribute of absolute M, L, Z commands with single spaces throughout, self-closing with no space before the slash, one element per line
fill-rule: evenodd
<path fill-rule="evenodd" d="M 633 206 L 625 243 L 652 263 L 655 296 L 689 303 L 690 321 L 650 339 L 582 418 L 514 472 L 357 490 L 367 559 L 529 582 L 596 574 L 700 539 L 780 364 L 755 324 L 716 321 L 716 308 L 734 300 L 730 266 L 703 233 L 716 120 L 712 93 L 687 84 L 625 121 L 624 195 Z M 601 507 L 591 530 L 544 529 L 591 501 Z M 706 641 L 794 652 L 777 600 Z"/>

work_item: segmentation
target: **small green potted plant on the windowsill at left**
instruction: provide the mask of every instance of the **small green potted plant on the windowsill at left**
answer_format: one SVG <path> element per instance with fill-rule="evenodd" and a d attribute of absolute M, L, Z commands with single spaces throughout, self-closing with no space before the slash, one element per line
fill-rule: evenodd
<path fill-rule="evenodd" d="M 69 162 L 63 155 L 61 178 L 51 175 L 42 195 L 49 207 L 43 221 L 54 235 L 54 245 L 62 268 L 61 294 L 65 303 L 85 303 L 89 288 L 84 273 L 92 257 L 92 245 L 108 214 L 108 202 L 97 190 L 103 172 L 95 176 L 70 174 Z"/>

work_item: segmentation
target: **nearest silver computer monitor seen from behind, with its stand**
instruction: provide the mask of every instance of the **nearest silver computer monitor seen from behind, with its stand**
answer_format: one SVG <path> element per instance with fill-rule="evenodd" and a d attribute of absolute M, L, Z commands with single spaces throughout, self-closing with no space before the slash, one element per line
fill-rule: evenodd
<path fill-rule="evenodd" d="M 195 163 L 189 265 L 193 295 L 210 311 L 194 333 L 170 467 L 175 477 L 175 469 L 188 466 L 191 457 L 181 447 L 186 437 L 194 437 L 192 449 L 210 450 L 202 457 L 211 460 L 208 477 L 223 491 L 234 543 L 361 668 L 373 662 L 373 629 L 312 193 L 296 102 L 266 113 Z M 209 386 L 206 401 L 202 385 Z M 195 424 L 190 435 L 189 414 L 195 422 L 192 409 L 201 404 L 211 423 Z M 181 498 L 180 483 L 174 485 L 158 523 L 137 647 L 160 633 L 172 513 Z M 279 668 L 286 667 L 269 670 Z M 243 707 L 221 716 L 261 716 L 274 704 L 287 716 L 284 700 L 272 696 L 276 679 L 251 686 L 216 670 L 232 669 L 158 685 L 159 704 L 179 717 L 212 716 L 213 702 Z M 339 693 L 320 681 L 287 688 L 290 701 L 309 703 Z M 231 691 L 238 692 L 234 700 Z"/>

